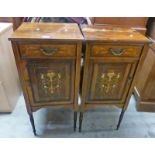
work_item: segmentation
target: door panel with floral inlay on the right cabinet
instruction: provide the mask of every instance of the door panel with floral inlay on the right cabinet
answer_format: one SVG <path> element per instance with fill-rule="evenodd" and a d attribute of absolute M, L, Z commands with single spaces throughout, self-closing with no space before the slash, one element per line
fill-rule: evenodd
<path fill-rule="evenodd" d="M 90 62 L 87 102 L 123 102 L 130 86 L 132 63 Z"/>

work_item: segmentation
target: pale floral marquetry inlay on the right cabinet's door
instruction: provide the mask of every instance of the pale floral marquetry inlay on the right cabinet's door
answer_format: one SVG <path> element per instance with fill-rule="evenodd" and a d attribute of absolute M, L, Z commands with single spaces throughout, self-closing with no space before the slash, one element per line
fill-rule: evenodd
<path fill-rule="evenodd" d="M 118 86 L 120 78 L 121 74 L 115 73 L 113 70 L 102 73 L 97 82 L 99 91 L 104 94 L 111 93 Z"/>

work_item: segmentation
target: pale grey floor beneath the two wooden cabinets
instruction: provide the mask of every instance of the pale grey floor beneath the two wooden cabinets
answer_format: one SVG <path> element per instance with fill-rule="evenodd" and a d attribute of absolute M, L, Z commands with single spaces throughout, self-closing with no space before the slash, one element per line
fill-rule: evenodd
<path fill-rule="evenodd" d="M 120 109 L 99 107 L 84 113 L 83 131 L 73 132 L 73 111 L 64 108 L 41 109 L 34 113 L 38 136 L 42 138 L 121 138 L 154 137 L 155 113 L 137 112 L 132 96 L 120 129 L 115 130 Z M 78 123 L 77 123 L 78 126 Z M 30 138 L 32 133 L 23 97 L 11 114 L 0 114 L 0 137 Z M 36 138 L 37 138 L 36 137 Z"/>

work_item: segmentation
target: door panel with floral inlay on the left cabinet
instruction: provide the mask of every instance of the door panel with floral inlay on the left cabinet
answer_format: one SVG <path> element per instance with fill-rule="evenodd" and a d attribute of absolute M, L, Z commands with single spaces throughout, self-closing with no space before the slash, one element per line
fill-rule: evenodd
<path fill-rule="evenodd" d="M 34 105 L 46 103 L 72 103 L 74 90 L 74 61 L 28 63 Z"/>

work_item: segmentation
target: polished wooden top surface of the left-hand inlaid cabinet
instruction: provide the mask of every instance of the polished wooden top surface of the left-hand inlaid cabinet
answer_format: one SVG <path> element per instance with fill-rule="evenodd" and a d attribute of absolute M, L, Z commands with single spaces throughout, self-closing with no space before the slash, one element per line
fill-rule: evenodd
<path fill-rule="evenodd" d="M 20 39 L 82 40 L 77 24 L 67 23 L 23 23 L 10 37 Z"/>

